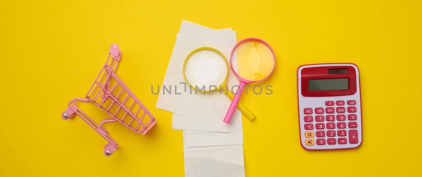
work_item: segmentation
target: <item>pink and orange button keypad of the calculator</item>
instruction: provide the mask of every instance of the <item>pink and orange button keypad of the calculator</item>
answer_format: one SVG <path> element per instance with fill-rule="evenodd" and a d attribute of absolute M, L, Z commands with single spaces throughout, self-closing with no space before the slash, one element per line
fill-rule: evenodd
<path fill-rule="evenodd" d="M 306 146 L 344 145 L 359 142 L 357 130 L 357 107 L 355 100 L 333 100 L 322 102 L 326 107 L 303 109 L 303 126 L 306 130 Z M 312 115 L 313 114 L 313 115 Z M 315 138 L 316 137 L 316 138 Z M 327 138 L 328 137 L 328 138 Z M 315 139 L 310 139 L 315 138 Z M 314 142 L 315 141 L 315 142 Z"/>

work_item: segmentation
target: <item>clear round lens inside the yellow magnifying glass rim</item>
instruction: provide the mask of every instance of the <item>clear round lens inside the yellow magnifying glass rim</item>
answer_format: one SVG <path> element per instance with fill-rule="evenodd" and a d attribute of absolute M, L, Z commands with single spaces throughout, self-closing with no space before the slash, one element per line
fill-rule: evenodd
<path fill-rule="evenodd" d="M 187 61 L 184 73 L 192 87 L 210 91 L 225 81 L 227 64 L 225 59 L 214 51 L 197 51 Z"/>

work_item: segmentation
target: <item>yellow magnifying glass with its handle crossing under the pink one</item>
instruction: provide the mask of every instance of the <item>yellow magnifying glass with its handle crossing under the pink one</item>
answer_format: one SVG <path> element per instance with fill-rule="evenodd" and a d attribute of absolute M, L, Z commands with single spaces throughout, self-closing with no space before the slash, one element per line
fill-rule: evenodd
<path fill-rule="evenodd" d="M 205 93 L 227 89 L 228 70 L 229 64 L 225 56 L 211 47 L 193 50 L 183 63 L 183 76 L 186 82 L 196 91 Z M 233 99 L 235 95 L 227 91 L 227 97 Z M 242 102 L 239 101 L 237 107 L 249 121 L 254 120 L 255 115 Z"/>

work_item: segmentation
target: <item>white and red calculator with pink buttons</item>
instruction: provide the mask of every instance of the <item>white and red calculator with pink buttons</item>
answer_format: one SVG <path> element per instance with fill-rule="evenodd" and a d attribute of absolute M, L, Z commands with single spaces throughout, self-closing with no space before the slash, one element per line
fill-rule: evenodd
<path fill-rule="evenodd" d="M 298 67 L 298 115 L 304 149 L 358 148 L 362 144 L 362 105 L 356 64 Z"/>

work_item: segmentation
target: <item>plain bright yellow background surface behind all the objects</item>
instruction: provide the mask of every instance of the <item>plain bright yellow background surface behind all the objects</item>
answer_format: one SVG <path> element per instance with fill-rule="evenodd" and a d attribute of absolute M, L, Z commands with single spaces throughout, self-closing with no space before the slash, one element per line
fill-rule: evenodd
<path fill-rule="evenodd" d="M 245 171 L 258 176 L 418 175 L 421 156 L 420 1 L 12 1 L 0 23 L 0 176 L 184 176 L 182 132 L 155 108 L 182 19 L 238 40 L 257 37 L 276 52 L 272 95 L 243 95 L 257 115 L 243 118 Z M 120 148 L 75 116 L 112 43 L 117 75 L 157 118 L 145 136 L 120 123 L 106 129 Z M 296 70 L 301 64 L 353 62 L 360 68 L 363 143 L 355 150 L 300 146 Z M 80 103 L 93 118 L 108 118 Z"/>

